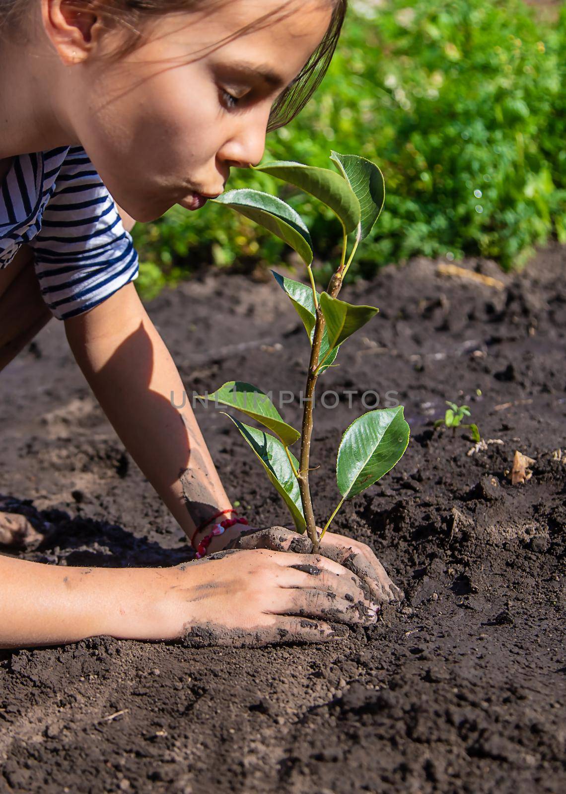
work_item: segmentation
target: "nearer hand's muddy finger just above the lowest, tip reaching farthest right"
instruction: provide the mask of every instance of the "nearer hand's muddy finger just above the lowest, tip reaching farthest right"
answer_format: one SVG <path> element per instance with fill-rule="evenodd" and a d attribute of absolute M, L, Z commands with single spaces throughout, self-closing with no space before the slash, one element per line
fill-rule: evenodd
<path fill-rule="evenodd" d="M 273 613 L 298 615 L 304 618 L 323 618 L 339 623 L 373 626 L 377 622 L 377 610 L 365 602 L 342 598 L 328 590 L 307 588 L 281 588 Z"/>

